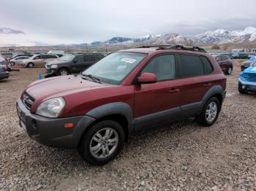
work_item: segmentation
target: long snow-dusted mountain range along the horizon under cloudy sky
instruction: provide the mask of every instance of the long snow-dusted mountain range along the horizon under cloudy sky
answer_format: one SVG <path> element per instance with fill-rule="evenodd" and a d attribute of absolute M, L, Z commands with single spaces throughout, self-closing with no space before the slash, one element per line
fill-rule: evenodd
<path fill-rule="evenodd" d="M 113 37 L 105 42 L 92 42 L 91 46 L 100 45 L 127 45 L 136 44 L 187 44 L 187 45 L 211 45 L 211 44 L 226 44 L 226 43 L 244 43 L 252 42 L 256 39 L 256 28 L 247 27 L 243 30 L 228 31 L 225 29 L 217 29 L 214 31 L 206 31 L 195 36 L 182 36 L 180 34 L 158 34 L 146 35 L 138 38 L 129 37 Z M 83 44 L 72 44 L 79 46 Z"/>

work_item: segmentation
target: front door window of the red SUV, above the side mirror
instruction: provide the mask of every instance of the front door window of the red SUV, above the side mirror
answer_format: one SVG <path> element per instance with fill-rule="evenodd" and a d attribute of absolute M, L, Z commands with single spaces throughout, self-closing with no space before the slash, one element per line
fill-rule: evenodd
<path fill-rule="evenodd" d="M 153 73 L 157 76 L 157 81 L 176 78 L 176 66 L 174 55 L 159 55 L 153 58 L 141 71 Z"/>

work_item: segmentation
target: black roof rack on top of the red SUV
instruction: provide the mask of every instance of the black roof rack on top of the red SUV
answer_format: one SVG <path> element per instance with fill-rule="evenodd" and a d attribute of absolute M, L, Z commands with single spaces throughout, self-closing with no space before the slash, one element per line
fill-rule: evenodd
<path fill-rule="evenodd" d="M 189 50 L 196 52 L 204 52 L 207 53 L 206 50 L 200 47 L 189 47 L 183 45 L 151 45 L 151 46 L 142 46 L 137 48 L 148 48 L 148 47 L 158 47 L 157 50 Z"/>

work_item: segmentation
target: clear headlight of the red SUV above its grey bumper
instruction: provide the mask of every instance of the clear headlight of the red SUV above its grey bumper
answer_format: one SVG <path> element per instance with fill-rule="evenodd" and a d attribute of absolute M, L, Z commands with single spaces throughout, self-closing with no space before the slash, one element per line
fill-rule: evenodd
<path fill-rule="evenodd" d="M 37 114 L 45 117 L 59 117 L 66 105 L 64 98 L 52 98 L 42 102 L 37 108 Z"/>

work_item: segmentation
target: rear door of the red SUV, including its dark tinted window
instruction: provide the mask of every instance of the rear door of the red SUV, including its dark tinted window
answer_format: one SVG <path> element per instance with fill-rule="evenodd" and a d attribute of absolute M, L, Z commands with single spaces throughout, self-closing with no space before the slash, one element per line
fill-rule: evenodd
<path fill-rule="evenodd" d="M 205 56 L 178 54 L 180 104 L 188 116 L 200 112 L 200 101 L 213 86 L 213 67 Z"/>

